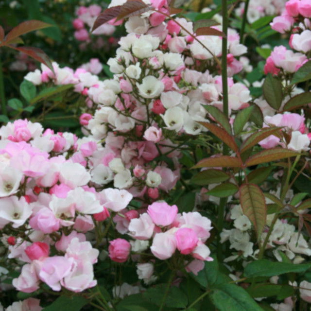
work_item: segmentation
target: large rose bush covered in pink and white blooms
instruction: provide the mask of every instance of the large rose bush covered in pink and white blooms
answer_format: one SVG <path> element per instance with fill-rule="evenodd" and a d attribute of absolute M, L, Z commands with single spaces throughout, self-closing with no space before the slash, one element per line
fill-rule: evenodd
<path fill-rule="evenodd" d="M 247 5 L 230 27 L 226 0 L 78 8 L 77 40 L 127 34 L 9 101 L 4 310 L 310 308 L 310 3 Z"/>

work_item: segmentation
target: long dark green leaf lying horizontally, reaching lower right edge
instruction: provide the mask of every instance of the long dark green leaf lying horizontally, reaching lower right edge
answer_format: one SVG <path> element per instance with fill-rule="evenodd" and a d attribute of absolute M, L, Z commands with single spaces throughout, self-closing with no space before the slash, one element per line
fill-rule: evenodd
<path fill-rule="evenodd" d="M 244 269 L 245 277 L 256 276 L 279 276 L 284 273 L 294 272 L 303 273 L 311 268 L 311 263 L 286 263 L 275 262 L 268 259 L 259 259 L 249 263 Z"/>

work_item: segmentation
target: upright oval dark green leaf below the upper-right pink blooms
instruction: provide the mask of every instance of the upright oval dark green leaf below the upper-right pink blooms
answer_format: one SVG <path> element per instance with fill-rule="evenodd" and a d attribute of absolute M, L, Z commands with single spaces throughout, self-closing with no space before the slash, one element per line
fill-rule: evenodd
<path fill-rule="evenodd" d="M 271 73 L 268 73 L 263 82 L 263 96 L 267 103 L 274 109 L 278 108 L 282 104 L 283 91 L 281 82 L 274 78 Z"/>

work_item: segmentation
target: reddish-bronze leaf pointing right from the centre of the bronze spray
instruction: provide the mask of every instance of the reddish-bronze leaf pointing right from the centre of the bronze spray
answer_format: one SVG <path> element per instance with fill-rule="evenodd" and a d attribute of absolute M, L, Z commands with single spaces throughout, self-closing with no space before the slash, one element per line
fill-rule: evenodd
<path fill-rule="evenodd" d="M 271 148 L 260 151 L 258 154 L 249 157 L 245 165 L 252 166 L 261 163 L 272 162 L 280 159 L 284 159 L 291 156 L 299 155 L 299 153 L 283 148 Z"/>

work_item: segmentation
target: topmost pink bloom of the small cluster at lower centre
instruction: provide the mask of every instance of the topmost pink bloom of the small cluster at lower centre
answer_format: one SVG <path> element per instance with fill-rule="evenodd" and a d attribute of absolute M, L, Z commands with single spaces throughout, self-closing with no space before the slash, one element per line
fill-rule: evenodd
<path fill-rule="evenodd" d="M 166 202 L 155 202 L 148 206 L 147 213 L 155 225 L 171 225 L 177 215 L 176 205 L 170 206 Z"/>

